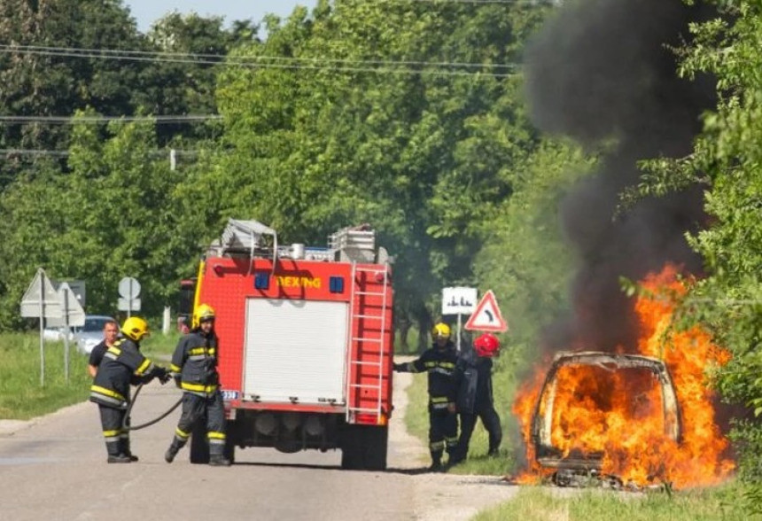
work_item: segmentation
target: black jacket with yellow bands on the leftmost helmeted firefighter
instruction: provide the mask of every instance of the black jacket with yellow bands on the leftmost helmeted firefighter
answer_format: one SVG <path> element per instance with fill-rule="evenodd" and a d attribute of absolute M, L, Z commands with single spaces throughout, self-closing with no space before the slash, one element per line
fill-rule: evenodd
<path fill-rule="evenodd" d="M 90 386 L 90 401 L 111 408 L 128 408 L 129 385 L 147 384 L 165 373 L 140 353 L 140 345 L 120 338 L 103 355 Z"/>

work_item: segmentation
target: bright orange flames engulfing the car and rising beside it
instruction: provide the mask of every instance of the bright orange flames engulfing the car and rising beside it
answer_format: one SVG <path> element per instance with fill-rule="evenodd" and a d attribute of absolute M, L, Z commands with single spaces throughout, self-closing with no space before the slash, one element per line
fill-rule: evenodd
<path fill-rule="evenodd" d="M 634 307 L 640 324 L 638 354 L 665 362 L 673 379 L 679 418 L 665 418 L 665 397 L 657 378 L 642 368 L 564 365 L 556 373 L 552 400 L 546 400 L 545 394 L 540 397 L 550 363 L 545 361 L 521 386 L 513 406 L 528 462 L 517 482 L 537 481 L 553 471 L 542 468 L 534 454 L 532 425 L 540 398 L 540 416 L 546 407 L 552 407 L 552 446 L 564 458 L 602 455 L 601 472 L 624 483 L 708 486 L 734 470 L 735 464 L 725 456 L 728 442 L 715 423 L 714 396 L 706 379 L 707 370 L 726 363 L 730 354 L 714 345 L 699 325 L 668 331 L 674 297 L 687 292 L 676 268 L 668 265 L 661 273 L 647 276 L 642 286 L 646 291 Z M 678 420 L 681 436 L 675 440 L 669 436 L 668 424 Z"/>

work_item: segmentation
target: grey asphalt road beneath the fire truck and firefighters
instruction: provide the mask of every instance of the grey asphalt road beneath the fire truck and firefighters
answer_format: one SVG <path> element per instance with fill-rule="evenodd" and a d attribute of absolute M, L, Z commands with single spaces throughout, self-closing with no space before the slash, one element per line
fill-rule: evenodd
<path fill-rule="evenodd" d="M 497 478 L 422 472 L 427 451 L 404 432 L 399 384 L 384 472 L 340 470 L 338 451 L 285 455 L 264 448 L 238 449 L 236 463 L 219 468 L 191 465 L 186 446 L 167 464 L 179 409 L 132 433 L 140 461 L 130 464 L 105 462 L 97 407 L 89 402 L 31 422 L 0 422 L 0 518 L 466 519 L 509 497 L 512 487 L 495 486 Z M 146 386 L 133 424 L 159 416 L 179 396 L 174 385 Z"/>

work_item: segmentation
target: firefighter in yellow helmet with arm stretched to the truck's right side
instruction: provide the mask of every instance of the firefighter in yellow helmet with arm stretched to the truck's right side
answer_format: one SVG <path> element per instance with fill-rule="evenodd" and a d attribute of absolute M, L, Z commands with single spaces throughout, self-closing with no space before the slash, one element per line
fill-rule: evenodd
<path fill-rule="evenodd" d="M 438 323 L 432 329 L 434 342 L 421 356 L 408 363 L 395 363 L 398 372 L 429 374 L 429 449 L 432 453 L 430 470 L 442 470 L 442 455 L 447 448 L 453 459 L 457 445 L 458 420 L 455 415 L 455 362 L 457 354 L 450 340 L 450 326 Z"/>

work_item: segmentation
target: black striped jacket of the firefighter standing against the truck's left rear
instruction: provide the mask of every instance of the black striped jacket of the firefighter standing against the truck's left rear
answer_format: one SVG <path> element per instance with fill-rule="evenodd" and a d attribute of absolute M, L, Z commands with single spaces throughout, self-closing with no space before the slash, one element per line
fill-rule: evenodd
<path fill-rule="evenodd" d="M 180 379 L 180 388 L 186 393 L 211 396 L 220 384 L 217 373 L 217 336 L 214 331 L 205 336 L 201 330 L 193 330 L 180 338 L 169 366 Z"/>

